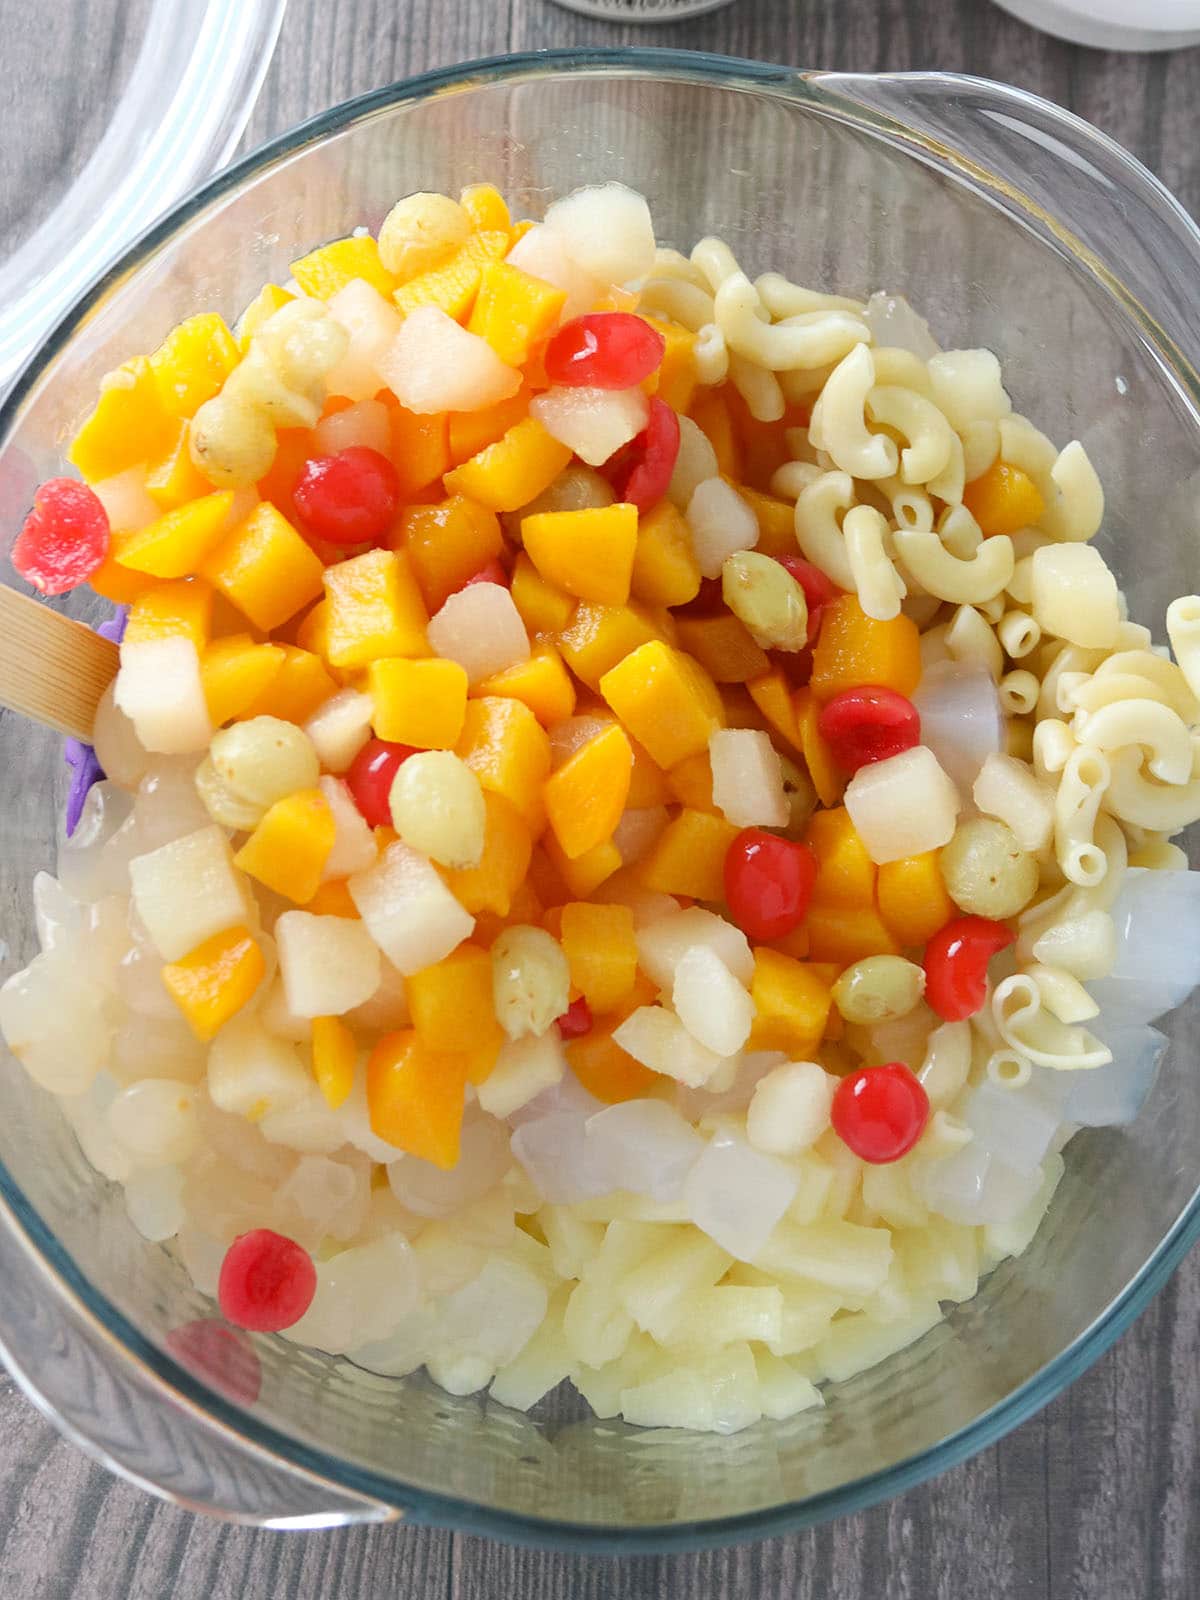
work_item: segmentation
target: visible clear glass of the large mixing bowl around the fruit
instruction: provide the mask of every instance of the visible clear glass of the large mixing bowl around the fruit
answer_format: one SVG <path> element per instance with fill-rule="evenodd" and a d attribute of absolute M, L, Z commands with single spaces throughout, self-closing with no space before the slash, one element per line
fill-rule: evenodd
<path fill-rule="evenodd" d="M 670 51 L 570 51 L 430 74 L 352 101 L 216 178 L 77 304 L 0 413 L 0 528 L 104 371 L 198 307 L 235 315 L 318 240 L 413 189 L 494 179 L 517 213 L 619 178 L 664 242 L 718 232 L 752 272 L 902 288 L 946 344 L 1005 357 L 1022 410 L 1085 440 L 1101 544 L 1133 614 L 1200 587 L 1200 235 L 1102 134 L 1016 90 L 941 75 L 803 74 Z M 3 574 L 0 574 L 3 576 Z M 11 576 L 11 571 L 10 571 Z M 53 867 L 59 742 L 0 717 L 0 933 L 32 954 Z M 1050 1400 L 1146 1306 L 1200 1232 L 1194 1008 L 1141 1120 L 1070 1146 L 1035 1243 L 920 1344 L 821 1414 L 731 1438 L 638 1432 L 570 1402 L 533 1418 L 421 1378 L 256 1341 L 243 1408 L 166 1350 L 208 1307 L 58 1109 L 6 1061 L 0 1341 L 82 1445 L 174 1499 L 314 1526 L 450 1523 L 573 1549 L 670 1549 L 854 1510 L 960 1461 Z"/>

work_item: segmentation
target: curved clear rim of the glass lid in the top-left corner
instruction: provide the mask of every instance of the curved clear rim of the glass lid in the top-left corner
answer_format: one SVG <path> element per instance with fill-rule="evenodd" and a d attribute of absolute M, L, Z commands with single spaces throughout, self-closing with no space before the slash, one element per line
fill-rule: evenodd
<path fill-rule="evenodd" d="M 43 333 L 155 218 L 232 155 L 286 0 L 157 0 L 104 138 L 0 266 L 0 394 Z"/>

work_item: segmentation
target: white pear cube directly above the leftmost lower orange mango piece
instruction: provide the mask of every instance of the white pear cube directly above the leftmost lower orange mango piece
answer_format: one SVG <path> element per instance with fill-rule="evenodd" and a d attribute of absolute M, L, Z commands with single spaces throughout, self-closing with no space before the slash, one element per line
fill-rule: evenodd
<path fill-rule="evenodd" d="M 219 827 L 171 840 L 130 862 L 133 909 L 165 962 L 253 917 L 246 880 Z"/>

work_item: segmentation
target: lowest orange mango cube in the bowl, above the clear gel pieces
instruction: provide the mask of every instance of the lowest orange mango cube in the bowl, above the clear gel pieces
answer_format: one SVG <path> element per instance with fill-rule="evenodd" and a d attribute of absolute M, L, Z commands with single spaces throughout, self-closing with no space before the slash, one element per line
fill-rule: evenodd
<path fill-rule="evenodd" d="M 429 1050 L 416 1029 L 384 1034 L 366 1061 L 371 1133 L 450 1171 L 458 1166 L 466 1086 L 464 1056 Z"/>

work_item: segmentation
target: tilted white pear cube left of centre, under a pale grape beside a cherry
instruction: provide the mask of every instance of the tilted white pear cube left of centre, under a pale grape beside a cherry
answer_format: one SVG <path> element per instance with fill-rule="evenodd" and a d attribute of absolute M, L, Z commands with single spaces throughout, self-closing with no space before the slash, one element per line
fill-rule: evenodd
<path fill-rule="evenodd" d="M 349 890 L 366 931 L 405 978 L 450 955 L 475 926 L 432 864 L 402 842 L 355 874 Z"/>

